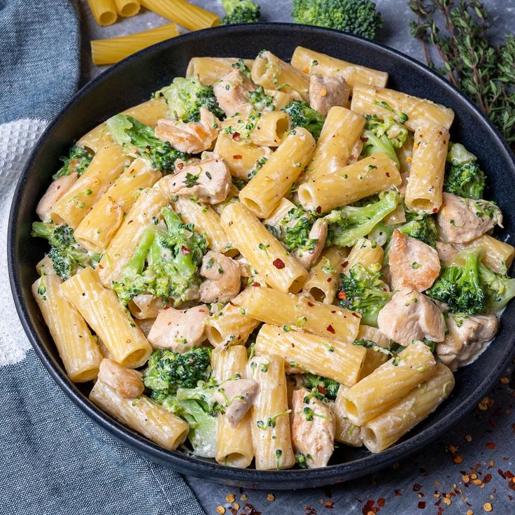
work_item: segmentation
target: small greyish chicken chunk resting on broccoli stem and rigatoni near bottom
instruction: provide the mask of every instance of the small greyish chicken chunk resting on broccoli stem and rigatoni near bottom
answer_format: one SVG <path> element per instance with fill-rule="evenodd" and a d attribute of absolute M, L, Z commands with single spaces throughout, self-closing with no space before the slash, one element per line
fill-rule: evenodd
<path fill-rule="evenodd" d="M 225 409 L 225 418 L 236 428 L 258 395 L 259 384 L 253 379 L 224 381 L 213 395 L 214 400 Z"/>

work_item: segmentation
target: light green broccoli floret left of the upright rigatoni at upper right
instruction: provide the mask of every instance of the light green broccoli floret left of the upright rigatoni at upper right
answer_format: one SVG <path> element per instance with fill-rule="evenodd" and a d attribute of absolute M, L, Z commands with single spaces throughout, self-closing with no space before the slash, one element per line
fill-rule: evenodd
<path fill-rule="evenodd" d="M 363 142 L 361 154 L 369 156 L 378 152 L 385 153 L 398 168 L 400 164 L 395 149 L 404 145 L 407 135 L 406 127 L 395 122 L 391 116 L 385 116 L 384 120 L 379 120 L 376 115 L 367 115 L 367 123 L 361 136 Z"/>

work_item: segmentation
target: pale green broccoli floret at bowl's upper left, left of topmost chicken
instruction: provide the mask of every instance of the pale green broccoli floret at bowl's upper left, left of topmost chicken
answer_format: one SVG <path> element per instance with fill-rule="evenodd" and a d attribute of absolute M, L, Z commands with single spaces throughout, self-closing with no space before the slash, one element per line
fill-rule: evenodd
<path fill-rule="evenodd" d="M 204 86 L 194 78 L 176 77 L 173 82 L 155 93 L 167 101 L 172 118 L 185 123 L 200 120 L 199 109 L 205 107 L 220 120 L 225 114 L 220 109 L 212 86 Z"/>

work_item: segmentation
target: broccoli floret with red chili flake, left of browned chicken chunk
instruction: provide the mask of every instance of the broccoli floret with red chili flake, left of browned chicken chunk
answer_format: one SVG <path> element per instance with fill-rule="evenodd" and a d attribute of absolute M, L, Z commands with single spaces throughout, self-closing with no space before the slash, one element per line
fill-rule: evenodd
<path fill-rule="evenodd" d="M 365 268 L 355 264 L 347 274 L 341 274 L 337 298 L 341 307 L 361 313 L 361 323 L 377 327 L 379 311 L 390 301 L 392 293 L 381 281 L 381 264 Z"/>

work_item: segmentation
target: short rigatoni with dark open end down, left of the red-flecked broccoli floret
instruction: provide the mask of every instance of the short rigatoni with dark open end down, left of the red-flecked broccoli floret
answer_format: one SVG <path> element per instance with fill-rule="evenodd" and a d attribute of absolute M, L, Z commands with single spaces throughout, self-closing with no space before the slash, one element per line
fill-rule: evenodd
<path fill-rule="evenodd" d="M 332 304 L 347 254 L 346 249 L 337 247 L 331 247 L 324 251 L 315 266 L 311 267 L 309 278 L 304 283 L 302 290 L 309 293 L 318 302 Z"/>

